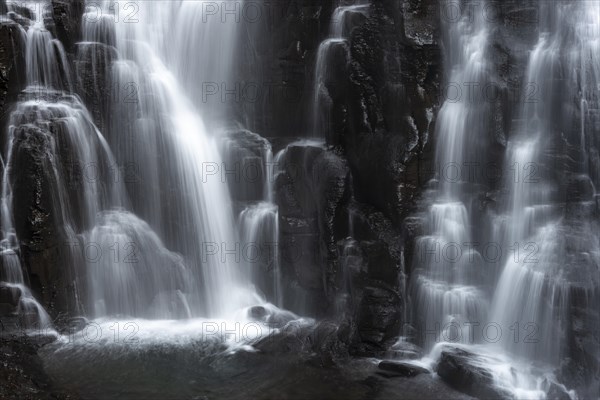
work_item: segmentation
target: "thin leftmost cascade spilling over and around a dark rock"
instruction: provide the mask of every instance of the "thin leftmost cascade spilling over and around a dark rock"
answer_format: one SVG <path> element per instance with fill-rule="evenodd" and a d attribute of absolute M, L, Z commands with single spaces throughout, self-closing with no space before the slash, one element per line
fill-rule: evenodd
<path fill-rule="evenodd" d="M 77 216 L 80 223 L 89 224 L 95 218 L 95 213 L 105 205 L 103 202 L 111 201 L 115 205 L 120 202 L 114 188 L 104 188 L 99 182 L 89 181 L 74 199 L 69 199 L 71 193 L 66 187 L 64 167 L 73 162 L 78 167 L 95 165 L 101 168 L 110 164 L 110 152 L 78 99 L 54 90 L 69 90 L 72 86 L 64 49 L 45 29 L 39 13 L 40 4 L 28 2 L 25 5 L 35 18 L 27 33 L 22 31 L 28 87 L 24 91 L 23 101 L 17 104 L 9 119 L 6 165 L 2 180 L 2 280 L 5 282 L 5 290 L 12 292 L 16 299 L 20 298 L 17 313 L 25 319 L 24 326 L 45 330 L 52 323 L 46 311 L 25 286 L 13 218 L 13 185 L 19 178 L 13 169 L 15 164 L 19 164 L 23 148 L 38 142 L 42 143 L 42 151 L 48 152 L 43 165 L 48 174 L 45 178 L 54 185 L 54 218 L 57 224 L 64 227 L 66 236 L 73 238 L 72 233 L 76 229 L 74 220 L 66 209 L 71 208 L 74 214 L 79 213 Z M 56 132 L 56 136 L 50 135 L 51 130 Z M 70 161 L 63 158 L 65 149 L 73 152 Z M 73 274 L 73 271 L 70 272 Z M 76 280 L 74 274 L 71 275 L 71 280 Z"/>

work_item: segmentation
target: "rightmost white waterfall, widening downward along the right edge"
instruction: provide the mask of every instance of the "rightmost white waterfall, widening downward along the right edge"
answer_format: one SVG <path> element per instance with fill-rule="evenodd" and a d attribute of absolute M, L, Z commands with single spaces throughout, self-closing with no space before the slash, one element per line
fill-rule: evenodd
<path fill-rule="evenodd" d="M 568 211 L 578 208 L 585 215 L 585 209 L 593 207 L 594 193 L 581 199 L 570 199 L 571 194 L 565 193 L 565 198 L 561 199 L 557 196 L 561 189 L 556 187 L 556 178 L 545 165 L 547 154 L 555 151 L 550 148 L 555 140 L 553 137 L 559 134 L 555 128 L 556 110 L 557 104 L 564 101 L 561 85 L 565 80 L 561 64 L 566 66 L 568 75 L 578 71 L 577 76 L 566 81 L 569 85 L 579 85 L 573 97 L 581 98 L 581 118 L 574 115 L 563 118 L 580 123 L 581 140 L 586 140 L 587 102 L 593 101 L 594 97 L 597 99 L 596 85 L 600 76 L 599 6 L 597 2 L 557 4 L 556 9 L 549 10 L 557 14 L 557 22 L 541 27 L 527 70 L 527 82 L 539 83 L 539 101 L 523 102 L 521 120 L 516 135 L 509 142 L 506 161 L 506 168 L 535 167 L 535 170 L 530 168 L 535 175 L 507 182 L 506 215 L 498 222 L 498 231 L 503 232 L 504 237 L 497 240 L 507 244 L 526 243 L 534 251 L 521 252 L 506 260 L 490 318 L 504 325 L 528 324 L 536 332 L 543 332 L 540 340 L 533 343 L 505 338 L 499 345 L 513 354 L 555 365 L 567 354 L 571 286 L 581 278 L 586 279 L 588 274 L 590 277 L 597 274 L 600 238 L 597 225 L 594 227 L 593 222 L 585 219 L 573 220 Z M 575 30 L 575 37 L 571 36 L 571 29 Z M 573 138 L 573 142 L 579 140 L 579 137 Z M 571 178 L 575 181 L 589 182 L 588 173 L 593 173 L 586 165 L 586 151 L 582 148 L 578 155 L 583 162 L 579 161 L 581 166 Z M 560 203 L 564 200 L 567 204 Z M 579 259 L 578 263 L 573 263 L 571 257 L 577 254 L 585 254 L 587 260 Z M 589 272 L 587 268 L 590 268 Z M 587 286 L 584 284 L 584 289 Z"/>

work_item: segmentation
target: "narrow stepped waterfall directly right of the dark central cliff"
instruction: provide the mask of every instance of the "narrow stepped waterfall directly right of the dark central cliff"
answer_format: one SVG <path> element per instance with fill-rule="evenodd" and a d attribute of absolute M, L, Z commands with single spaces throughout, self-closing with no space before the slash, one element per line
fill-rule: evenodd
<path fill-rule="evenodd" d="M 448 81 L 465 87 L 485 85 L 488 73 L 486 46 L 488 27 L 481 15 L 472 20 L 463 16 L 460 21 L 446 21 L 445 50 Z M 478 161 L 486 131 L 488 107 L 478 98 L 461 96 L 446 100 L 436 124 L 436 169 L 462 167 Z M 488 301 L 474 270 L 476 250 L 464 250 L 473 243 L 469 215 L 469 182 L 446 179 L 438 174 L 438 191 L 427 216 L 426 236 L 417 239 L 417 254 L 411 291 L 415 299 L 415 315 L 424 334 L 424 346 L 431 349 L 440 337 L 447 337 L 456 326 L 462 332 L 460 341 L 468 342 L 470 321 L 483 321 Z"/>

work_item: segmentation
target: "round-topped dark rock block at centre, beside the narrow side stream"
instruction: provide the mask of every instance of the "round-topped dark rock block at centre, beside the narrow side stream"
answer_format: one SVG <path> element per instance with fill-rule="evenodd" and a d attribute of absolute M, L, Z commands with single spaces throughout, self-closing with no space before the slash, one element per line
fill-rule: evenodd
<path fill-rule="evenodd" d="M 285 284 L 295 286 L 284 291 L 285 308 L 330 315 L 339 240 L 335 227 L 348 197 L 345 160 L 321 147 L 292 145 L 277 168 L 282 171 L 274 188 L 282 271 Z M 294 303 L 298 298 L 310 300 L 310 304 Z"/>

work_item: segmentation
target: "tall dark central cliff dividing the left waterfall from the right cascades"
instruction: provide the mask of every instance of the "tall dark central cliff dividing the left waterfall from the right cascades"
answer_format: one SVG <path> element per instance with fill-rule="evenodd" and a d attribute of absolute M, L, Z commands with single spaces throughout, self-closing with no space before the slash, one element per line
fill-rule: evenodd
<path fill-rule="evenodd" d="M 260 115 L 253 126 L 274 136 L 311 132 L 316 50 L 328 34 L 333 5 L 291 2 L 277 7 L 286 18 L 263 29 L 285 33 L 273 35 L 275 43 L 254 56 L 264 76 L 275 77 L 281 87 L 288 78 L 302 89 L 302 96 L 293 105 L 267 99 L 253 108 L 254 115 Z M 368 17 L 351 20 L 346 46 L 332 55 L 332 63 L 341 69 L 325 82 L 333 116 L 326 140 L 347 160 L 352 174 L 349 189 L 363 207 L 359 217 L 352 217 L 359 220 L 360 232 L 349 232 L 350 203 L 344 202 L 338 211 L 344 216 L 338 218 L 337 239 L 323 240 L 330 234 L 319 230 L 319 195 L 310 190 L 314 186 L 310 180 L 292 182 L 289 173 L 281 175 L 276 198 L 283 251 L 295 249 L 301 254 L 293 262 L 285 261 L 292 254 L 282 257 L 288 273 L 293 271 L 287 275 L 293 276 L 292 281 L 285 279 L 286 291 L 291 298 L 316 299 L 315 304 L 328 299 L 331 305 L 336 298 L 338 312 L 343 310 L 355 323 L 354 351 L 368 354 L 383 351 L 405 322 L 405 293 L 399 277 L 403 237 L 391 226 L 400 224 L 414 208 L 420 189 L 432 175 L 430 131 L 441 76 L 438 5 L 425 0 L 372 1 Z M 320 29 L 309 29 L 319 23 Z M 273 112 L 282 107 L 286 112 Z M 298 114 L 303 115 L 302 121 L 296 120 Z M 300 165 L 310 165 L 316 157 L 311 153 L 320 152 L 300 151 L 289 150 L 289 159 L 301 160 Z M 308 176 L 311 173 L 308 170 Z M 326 213 L 334 215 L 334 209 Z M 348 235 L 353 239 L 346 241 Z M 318 265 L 325 263 L 324 272 Z"/>

